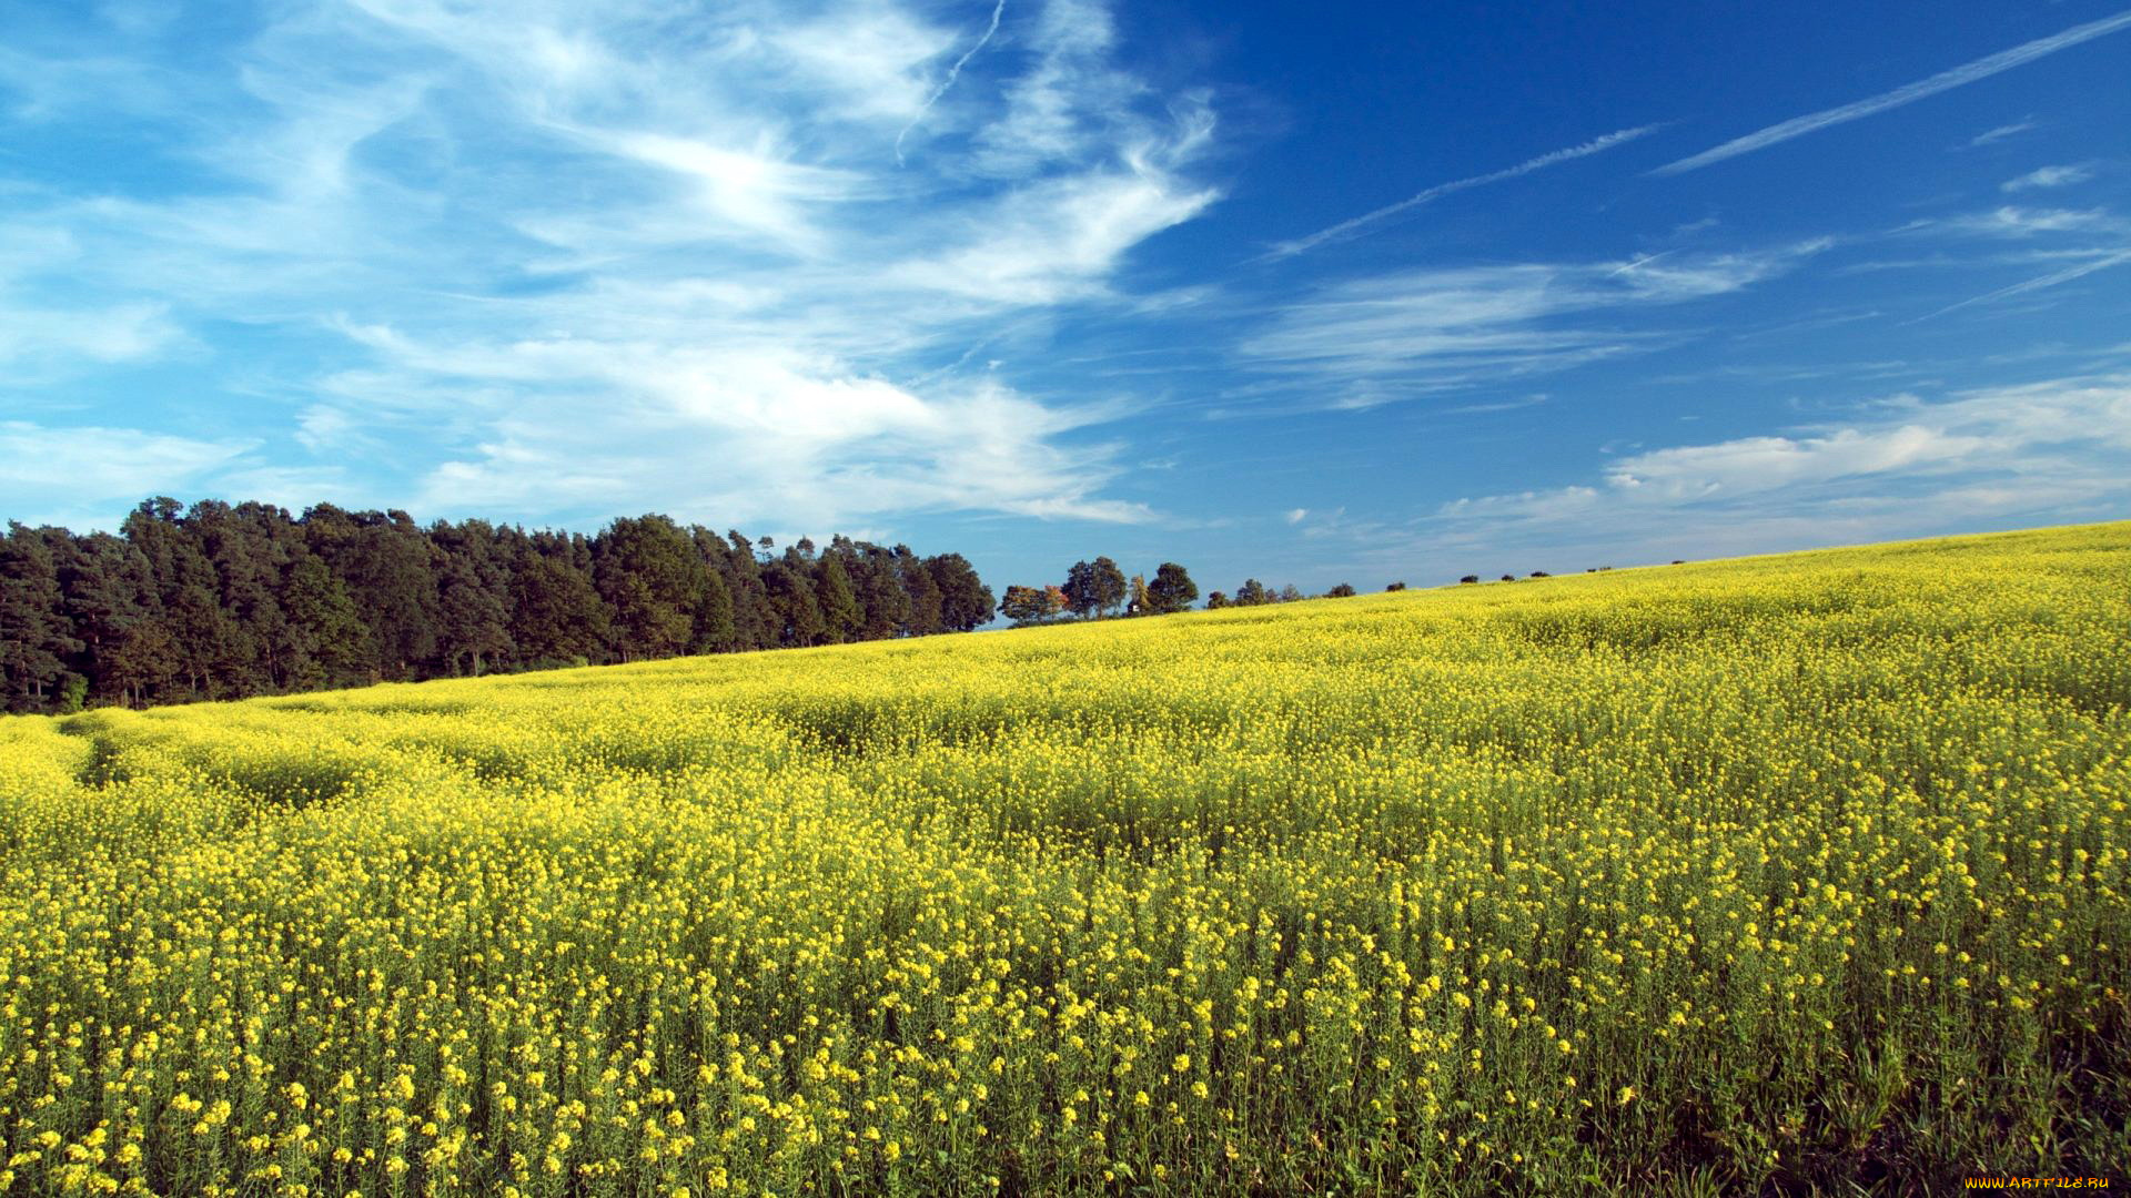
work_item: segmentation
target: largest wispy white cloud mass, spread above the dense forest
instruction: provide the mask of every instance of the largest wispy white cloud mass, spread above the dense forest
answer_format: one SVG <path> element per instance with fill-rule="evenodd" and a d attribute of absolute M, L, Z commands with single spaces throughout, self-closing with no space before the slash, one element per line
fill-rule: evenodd
<path fill-rule="evenodd" d="M 967 360 L 1002 320 L 1132 307 L 1134 249 L 1219 198 L 1193 177 L 1204 96 L 1123 70 L 1100 2 L 993 4 L 974 45 L 901 0 L 249 17 L 185 60 L 141 43 L 194 98 L 145 130 L 164 188 L 0 200 L 0 298 L 49 324 L 0 328 L 0 360 L 213 356 L 222 330 L 277 328 L 311 354 L 243 367 L 258 437 L 369 503 L 1151 516 L 1104 495 L 1121 467 L 1097 433 L 1127 396 Z M 0 60 L 45 81 L 13 119 L 119 102 L 45 64 Z M 925 153 L 897 166 L 901 143 Z M 94 335 L 53 341 L 77 324 Z M 141 456 L 162 465 L 132 486 L 262 482 L 226 441 L 185 443 L 213 452 Z"/>

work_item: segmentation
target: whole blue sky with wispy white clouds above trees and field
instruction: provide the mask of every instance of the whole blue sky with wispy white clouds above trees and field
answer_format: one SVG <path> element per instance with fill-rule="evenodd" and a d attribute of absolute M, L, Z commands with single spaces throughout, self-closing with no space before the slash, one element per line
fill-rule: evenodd
<path fill-rule="evenodd" d="M 0 514 L 1200 586 L 2131 516 L 2108 4 L 0 0 Z"/>

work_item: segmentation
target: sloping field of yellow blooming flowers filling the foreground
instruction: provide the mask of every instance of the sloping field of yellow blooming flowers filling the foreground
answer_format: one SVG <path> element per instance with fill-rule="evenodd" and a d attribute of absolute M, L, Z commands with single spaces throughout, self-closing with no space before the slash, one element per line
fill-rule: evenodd
<path fill-rule="evenodd" d="M 0 721 L 0 1192 L 2131 1162 L 2131 524 Z"/>

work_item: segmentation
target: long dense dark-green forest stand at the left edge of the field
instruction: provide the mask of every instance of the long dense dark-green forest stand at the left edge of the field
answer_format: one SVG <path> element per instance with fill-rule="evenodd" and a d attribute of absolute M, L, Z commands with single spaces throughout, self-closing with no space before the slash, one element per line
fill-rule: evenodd
<path fill-rule="evenodd" d="M 597 535 L 320 503 L 149 499 L 119 533 L 9 522 L 0 706 L 72 712 L 970 631 L 961 554 L 776 552 L 667 516 Z"/>

